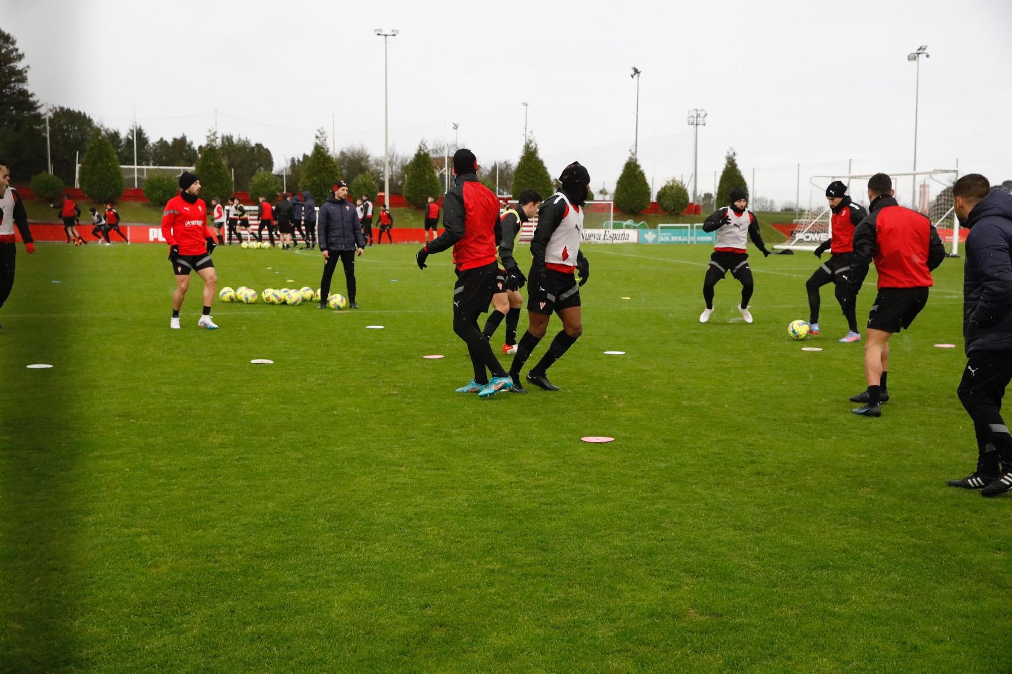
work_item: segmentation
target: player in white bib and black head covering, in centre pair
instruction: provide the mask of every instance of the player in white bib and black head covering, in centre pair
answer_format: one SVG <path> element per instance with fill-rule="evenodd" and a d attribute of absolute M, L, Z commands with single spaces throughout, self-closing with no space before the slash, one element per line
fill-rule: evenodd
<path fill-rule="evenodd" d="M 580 162 L 573 162 L 563 169 L 559 182 L 562 183 L 559 191 L 550 196 L 537 212 L 537 228 L 530 241 L 533 260 L 527 287 L 529 326 L 517 344 L 509 368 L 516 393 L 526 393 L 520 384 L 520 370 L 544 337 L 553 313 L 559 315 L 563 329 L 556 334 L 537 364 L 527 372 L 529 383 L 545 391 L 559 391 L 559 387 L 549 382 L 549 367 L 583 334 L 580 286 L 590 278 L 590 263 L 580 250 L 580 237 L 590 173 Z M 578 271 L 579 284 L 576 280 Z"/>

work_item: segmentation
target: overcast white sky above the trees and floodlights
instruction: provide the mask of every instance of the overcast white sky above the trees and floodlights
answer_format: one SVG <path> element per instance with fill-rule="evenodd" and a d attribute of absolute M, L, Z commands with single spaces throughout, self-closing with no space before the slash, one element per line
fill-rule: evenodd
<path fill-rule="evenodd" d="M 349 7 L 344 10 L 343 7 Z M 154 139 L 222 133 L 278 164 L 336 119 L 337 147 L 383 153 L 383 38 L 391 143 L 448 138 L 479 162 L 515 161 L 528 128 L 553 175 L 570 161 L 614 184 L 634 143 L 660 187 L 689 178 L 686 111 L 699 134 L 700 191 L 730 147 L 756 193 L 794 198 L 808 177 L 910 170 L 922 60 L 918 168 L 1012 179 L 1012 1 L 358 2 L 0 0 L 0 25 L 39 100 Z M 909 184 L 909 183 L 908 183 Z M 902 193 L 909 194 L 909 188 Z M 816 194 L 819 196 L 819 194 Z"/>

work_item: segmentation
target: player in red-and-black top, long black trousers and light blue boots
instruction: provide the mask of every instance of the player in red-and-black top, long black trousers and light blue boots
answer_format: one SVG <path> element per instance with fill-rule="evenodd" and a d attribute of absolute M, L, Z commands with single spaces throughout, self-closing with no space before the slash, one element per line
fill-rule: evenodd
<path fill-rule="evenodd" d="M 499 232 L 499 200 L 478 180 L 478 160 L 471 150 L 453 154 L 453 186 L 443 197 L 441 235 L 428 241 L 415 254 L 419 269 L 425 259 L 453 247 L 456 283 L 453 286 L 453 332 L 468 345 L 474 378 L 456 390 L 488 398 L 508 391 L 513 381 L 492 352 L 492 346 L 478 329 L 478 317 L 489 311 L 496 291 L 496 244 Z M 383 222 L 383 221 L 381 221 Z M 486 368 L 492 373 L 489 377 Z"/>

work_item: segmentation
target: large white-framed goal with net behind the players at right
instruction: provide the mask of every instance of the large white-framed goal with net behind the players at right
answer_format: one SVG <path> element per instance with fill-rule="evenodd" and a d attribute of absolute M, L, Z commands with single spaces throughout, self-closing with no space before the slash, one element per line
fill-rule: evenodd
<path fill-rule="evenodd" d="M 851 185 L 851 181 L 867 180 L 870 173 L 849 175 L 814 175 L 810 178 L 812 185 L 820 190 L 833 180 L 840 180 Z M 955 216 L 955 200 L 952 198 L 952 184 L 958 177 L 955 169 L 934 169 L 931 171 L 910 171 L 907 173 L 890 173 L 894 188 L 897 179 L 914 177 L 920 179 L 918 203 L 916 209 L 924 214 L 938 230 L 938 236 L 949 250 L 950 257 L 959 255 L 959 238 L 965 236 L 959 230 L 959 221 Z M 856 184 L 861 184 L 860 182 Z M 866 201 L 864 190 L 848 190 L 851 198 L 857 203 Z M 824 241 L 833 236 L 832 217 L 829 206 L 803 213 L 794 219 L 793 229 L 787 241 L 773 246 L 779 250 L 815 250 Z"/>

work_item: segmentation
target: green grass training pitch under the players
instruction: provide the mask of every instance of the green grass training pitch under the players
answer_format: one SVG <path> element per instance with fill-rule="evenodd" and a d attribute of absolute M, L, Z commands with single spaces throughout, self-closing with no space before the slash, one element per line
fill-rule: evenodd
<path fill-rule="evenodd" d="M 367 249 L 360 311 L 216 303 L 215 332 L 195 277 L 169 330 L 164 246 L 18 252 L 0 669 L 1009 667 L 1009 499 L 944 483 L 976 459 L 961 260 L 894 338 L 893 400 L 864 419 L 831 287 L 823 336 L 786 335 L 810 253 L 753 255 L 755 323 L 729 277 L 700 325 L 707 249 L 589 247 L 562 390 L 479 400 L 453 393 L 449 254 L 422 272 L 414 252 Z M 319 284 L 315 251 L 215 259 L 220 287 Z"/>

